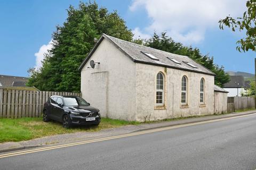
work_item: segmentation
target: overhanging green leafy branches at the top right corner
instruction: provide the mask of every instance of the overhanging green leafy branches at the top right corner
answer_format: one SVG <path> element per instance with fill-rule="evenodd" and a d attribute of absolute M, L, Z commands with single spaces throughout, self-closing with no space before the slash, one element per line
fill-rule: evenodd
<path fill-rule="evenodd" d="M 237 50 L 241 52 L 247 52 L 249 49 L 255 52 L 256 48 L 256 1 L 249 0 L 246 2 L 247 11 L 244 12 L 243 17 L 238 17 L 236 19 L 231 16 L 227 16 L 225 19 L 219 21 L 220 29 L 223 30 L 223 26 L 231 28 L 233 31 L 245 30 L 246 36 L 237 41 Z"/>

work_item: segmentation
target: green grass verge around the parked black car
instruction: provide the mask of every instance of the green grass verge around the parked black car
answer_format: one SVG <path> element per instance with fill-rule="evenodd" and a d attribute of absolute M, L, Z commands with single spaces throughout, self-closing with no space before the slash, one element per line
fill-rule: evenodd
<path fill-rule="evenodd" d="M 18 119 L 0 118 L 0 142 L 18 142 L 55 134 L 95 132 L 129 124 L 134 125 L 140 123 L 102 118 L 99 126 L 75 126 L 71 129 L 65 129 L 59 122 L 43 122 L 42 117 L 25 117 Z"/>

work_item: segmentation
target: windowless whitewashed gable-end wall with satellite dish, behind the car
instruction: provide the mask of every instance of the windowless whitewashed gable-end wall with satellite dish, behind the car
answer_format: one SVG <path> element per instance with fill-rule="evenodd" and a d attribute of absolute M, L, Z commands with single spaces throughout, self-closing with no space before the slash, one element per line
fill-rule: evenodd
<path fill-rule="evenodd" d="M 94 69 L 90 60 L 100 62 Z M 135 120 L 135 64 L 103 39 L 81 71 L 82 97 L 103 117 Z"/>

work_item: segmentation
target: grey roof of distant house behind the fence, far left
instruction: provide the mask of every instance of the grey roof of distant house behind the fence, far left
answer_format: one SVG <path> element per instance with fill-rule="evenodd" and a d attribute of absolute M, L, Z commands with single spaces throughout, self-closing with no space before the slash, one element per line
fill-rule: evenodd
<path fill-rule="evenodd" d="M 26 86 L 28 78 L 17 77 L 11 75 L 0 75 L 0 86 L 12 87 L 12 86 Z"/>

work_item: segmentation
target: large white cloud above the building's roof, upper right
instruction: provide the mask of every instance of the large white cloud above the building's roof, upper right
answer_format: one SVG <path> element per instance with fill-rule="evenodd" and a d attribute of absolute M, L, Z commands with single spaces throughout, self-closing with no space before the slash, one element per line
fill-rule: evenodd
<path fill-rule="evenodd" d="M 207 29 L 219 29 L 218 21 L 231 16 L 241 16 L 245 9 L 243 0 L 134 0 L 130 11 L 144 8 L 151 24 L 135 28 L 141 35 L 154 31 L 166 31 L 174 40 L 185 44 L 199 43 L 204 40 Z"/>

